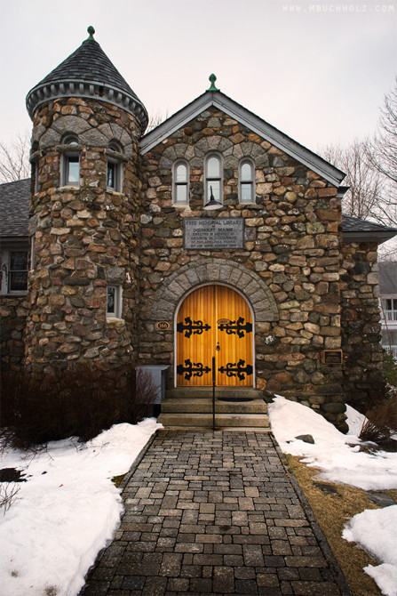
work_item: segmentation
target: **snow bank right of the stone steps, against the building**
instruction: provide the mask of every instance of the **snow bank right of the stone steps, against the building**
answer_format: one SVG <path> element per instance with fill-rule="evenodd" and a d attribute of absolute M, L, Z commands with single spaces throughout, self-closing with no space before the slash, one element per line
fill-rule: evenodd
<path fill-rule="evenodd" d="M 397 454 L 360 451 L 361 441 L 356 435 L 344 435 L 310 407 L 281 396 L 276 396 L 268 408 L 272 431 L 282 450 L 322 470 L 318 478 L 364 490 L 397 488 Z M 356 421 L 360 417 L 358 412 L 354 416 Z M 311 434 L 314 445 L 295 439 L 302 434 Z"/>

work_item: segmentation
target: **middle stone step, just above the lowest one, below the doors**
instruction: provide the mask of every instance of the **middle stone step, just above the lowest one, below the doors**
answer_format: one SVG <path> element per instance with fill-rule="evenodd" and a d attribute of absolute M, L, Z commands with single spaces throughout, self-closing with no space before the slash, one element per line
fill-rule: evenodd
<path fill-rule="evenodd" d="M 250 401 L 222 401 L 215 399 L 215 412 L 224 414 L 267 414 L 267 405 L 263 399 Z M 212 399 L 174 398 L 165 399 L 162 413 L 166 414 L 212 414 Z"/>

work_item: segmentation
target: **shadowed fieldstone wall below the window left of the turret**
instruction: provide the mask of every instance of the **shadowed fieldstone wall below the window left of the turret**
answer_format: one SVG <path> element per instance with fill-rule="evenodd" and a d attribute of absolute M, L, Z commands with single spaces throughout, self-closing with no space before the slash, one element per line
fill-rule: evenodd
<path fill-rule="evenodd" d="M 0 297 L 0 368 L 21 370 L 25 356 L 24 333 L 28 316 L 26 295 Z"/>

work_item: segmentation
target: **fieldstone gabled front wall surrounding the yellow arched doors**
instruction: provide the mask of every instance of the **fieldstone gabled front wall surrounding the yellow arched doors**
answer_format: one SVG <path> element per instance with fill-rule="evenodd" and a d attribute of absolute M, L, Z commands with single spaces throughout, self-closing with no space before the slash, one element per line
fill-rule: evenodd
<path fill-rule="evenodd" d="M 205 212 L 203 163 L 213 151 L 223 158 L 224 207 Z M 242 157 L 255 164 L 252 205 L 238 203 Z M 186 208 L 172 205 L 171 169 L 178 158 L 190 166 Z M 238 270 L 258 284 L 268 304 L 267 318 L 257 318 L 255 328 L 258 388 L 298 399 L 345 430 L 342 366 L 322 365 L 320 358 L 321 350 L 341 347 L 337 188 L 215 108 L 148 151 L 142 157 L 142 181 L 140 361 L 170 364 L 172 383 L 173 329 L 156 331 L 155 321 L 171 315 L 172 309 L 175 313 L 188 284 L 195 287 L 222 278 L 238 286 L 233 277 Z M 244 218 L 244 248 L 185 250 L 187 217 Z M 230 278 L 225 267 L 220 273 L 219 260 L 230 266 Z M 201 275 L 192 279 L 192 272 L 199 270 Z M 243 292 L 244 286 L 240 285 Z M 245 294 L 254 306 L 249 291 Z"/>

